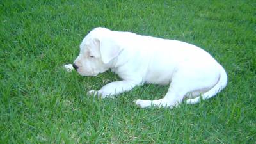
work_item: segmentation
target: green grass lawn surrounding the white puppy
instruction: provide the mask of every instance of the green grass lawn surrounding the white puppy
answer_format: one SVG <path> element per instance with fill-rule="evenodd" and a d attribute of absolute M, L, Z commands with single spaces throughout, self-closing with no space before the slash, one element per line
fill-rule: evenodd
<path fill-rule="evenodd" d="M 0 1 L 0 143 L 255 143 L 255 7 L 253 0 Z M 88 97 L 118 77 L 61 66 L 97 26 L 198 45 L 225 67 L 228 86 L 174 109 L 132 102 L 159 99 L 167 86 Z"/>

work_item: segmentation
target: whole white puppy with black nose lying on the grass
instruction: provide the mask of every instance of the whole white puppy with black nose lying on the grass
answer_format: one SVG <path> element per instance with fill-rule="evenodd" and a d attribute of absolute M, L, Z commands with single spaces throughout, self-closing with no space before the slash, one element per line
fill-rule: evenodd
<path fill-rule="evenodd" d="M 224 68 L 195 45 L 106 28 L 95 28 L 85 36 L 73 67 L 82 76 L 97 76 L 110 68 L 122 78 L 88 92 L 103 98 L 144 83 L 170 84 L 163 99 L 135 100 L 141 108 L 172 108 L 184 98 L 188 98 L 188 104 L 195 104 L 227 85 Z"/>

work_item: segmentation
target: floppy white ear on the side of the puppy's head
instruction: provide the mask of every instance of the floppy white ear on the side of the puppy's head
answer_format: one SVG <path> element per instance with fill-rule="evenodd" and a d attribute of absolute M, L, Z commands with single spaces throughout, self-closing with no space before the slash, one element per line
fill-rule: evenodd
<path fill-rule="evenodd" d="M 116 58 L 122 51 L 122 48 L 111 38 L 101 38 L 96 41 L 100 46 L 100 56 L 105 64 Z"/>

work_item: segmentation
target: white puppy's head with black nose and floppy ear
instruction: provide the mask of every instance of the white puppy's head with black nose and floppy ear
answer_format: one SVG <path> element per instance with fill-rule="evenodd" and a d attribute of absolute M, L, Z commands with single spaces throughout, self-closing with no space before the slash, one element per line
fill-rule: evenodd
<path fill-rule="evenodd" d="M 121 51 L 112 35 L 109 29 L 95 28 L 84 37 L 73 64 L 81 76 L 97 76 L 111 67 L 111 61 Z"/>

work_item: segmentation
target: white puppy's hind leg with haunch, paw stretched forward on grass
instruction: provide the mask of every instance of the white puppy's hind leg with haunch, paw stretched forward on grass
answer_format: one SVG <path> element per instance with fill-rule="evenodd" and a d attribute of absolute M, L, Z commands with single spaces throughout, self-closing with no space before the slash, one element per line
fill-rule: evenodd
<path fill-rule="evenodd" d="M 212 72 L 209 68 L 200 70 L 180 68 L 180 70 L 173 75 L 170 88 L 163 99 L 139 99 L 135 102 L 140 108 L 148 108 L 150 106 L 172 108 L 173 106 L 179 105 L 189 92 L 201 89 L 211 89 L 218 82 L 219 77 L 219 72 Z"/>

